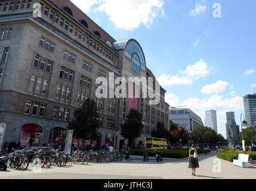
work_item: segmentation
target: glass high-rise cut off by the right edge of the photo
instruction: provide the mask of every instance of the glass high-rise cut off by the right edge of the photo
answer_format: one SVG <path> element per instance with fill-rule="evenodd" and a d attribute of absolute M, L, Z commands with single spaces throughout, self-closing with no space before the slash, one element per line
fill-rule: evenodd
<path fill-rule="evenodd" d="M 248 126 L 255 128 L 256 121 L 256 94 L 243 97 L 243 106 L 245 107 L 245 120 Z"/>

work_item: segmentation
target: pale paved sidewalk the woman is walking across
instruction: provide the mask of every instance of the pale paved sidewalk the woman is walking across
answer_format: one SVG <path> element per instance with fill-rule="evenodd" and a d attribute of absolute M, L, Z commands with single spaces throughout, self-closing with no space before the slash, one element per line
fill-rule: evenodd
<path fill-rule="evenodd" d="M 221 172 L 213 172 L 213 161 L 221 164 Z M 197 169 L 197 176 L 191 175 L 188 168 L 188 160 L 183 161 L 162 161 L 155 160 L 143 162 L 134 160 L 132 162 L 122 161 L 110 164 L 88 164 L 73 165 L 73 167 L 51 167 L 42 168 L 41 173 L 34 173 L 29 166 L 28 171 L 17 171 L 8 169 L 7 172 L 0 171 L 0 178 L 85 178 L 85 179 L 256 179 L 256 167 L 240 168 L 232 162 L 216 158 L 216 153 L 200 156 L 200 168 Z"/>

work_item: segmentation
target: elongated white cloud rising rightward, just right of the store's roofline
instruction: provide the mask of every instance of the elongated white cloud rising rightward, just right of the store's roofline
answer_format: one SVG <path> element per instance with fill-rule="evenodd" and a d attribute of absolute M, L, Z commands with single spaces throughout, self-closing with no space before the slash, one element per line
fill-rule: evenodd
<path fill-rule="evenodd" d="M 194 65 L 188 65 L 185 70 L 179 70 L 184 76 L 167 75 L 163 73 L 157 78 L 159 84 L 171 85 L 191 85 L 194 81 L 203 78 L 214 72 L 213 66 L 208 66 L 207 63 L 201 59 Z"/>

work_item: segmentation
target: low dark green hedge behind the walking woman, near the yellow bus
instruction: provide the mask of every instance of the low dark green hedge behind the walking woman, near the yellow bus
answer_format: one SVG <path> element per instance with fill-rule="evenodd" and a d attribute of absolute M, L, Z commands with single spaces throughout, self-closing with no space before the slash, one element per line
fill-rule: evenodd
<path fill-rule="evenodd" d="M 158 149 L 147 149 L 147 153 L 149 156 L 155 156 L 153 155 L 153 152 Z M 204 149 L 197 149 L 197 153 L 203 153 Z M 131 155 L 136 156 L 143 156 L 144 149 L 134 149 L 129 150 Z M 210 150 L 207 149 L 207 153 L 209 153 Z M 176 148 L 176 149 L 162 149 L 162 157 L 163 158 L 174 158 L 174 159 L 180 159 L 180 158 L 186 158 L 189 156 L 189 148 Z"/>

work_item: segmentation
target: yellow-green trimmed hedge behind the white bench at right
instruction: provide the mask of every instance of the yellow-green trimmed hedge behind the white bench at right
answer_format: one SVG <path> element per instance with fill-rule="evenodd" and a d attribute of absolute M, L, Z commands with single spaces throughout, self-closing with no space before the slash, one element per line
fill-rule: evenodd
<path fill-rule="evenodd" d="M 224 159 L 226 161 L 233 162 L 234 159 L 238 158 L 238 155 L 243 152 L 237 152 L 236 150 L 224 148 L 221 153 L 217 154 L 217 157 L 220 159 Z M 250 154 L 249 154 L 250 153 Z M 253 156 L 256 158 L 256 152 L 246 152 L 249 156 Z"/>

